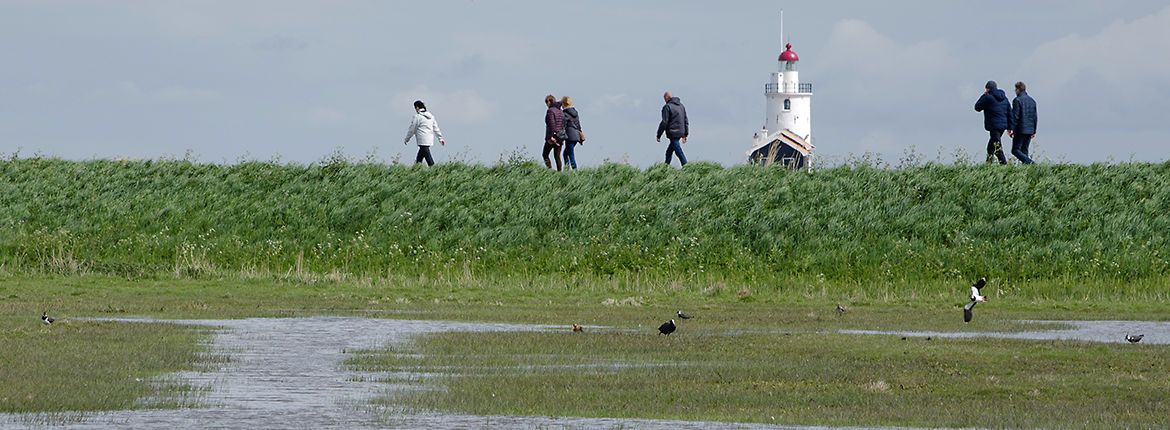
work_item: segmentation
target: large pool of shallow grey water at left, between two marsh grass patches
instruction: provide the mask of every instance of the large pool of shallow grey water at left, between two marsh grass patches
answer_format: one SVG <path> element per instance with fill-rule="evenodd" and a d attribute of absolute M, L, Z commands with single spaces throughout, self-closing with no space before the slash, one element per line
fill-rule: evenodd
<path fill-rule="evenodd" d="M 125 321 L 152 321 L 126 319 Z M 215 326 L 212 353 L 228 362 L 208 372 L 174 375 L 207 387 L 206 408 L 132 410 L 84 415 L 0 415 L 0 426 L 61 423 L 76 429 L 201 428 L 321 429 L 383 428 L 370 400 L 408 389 L 374 382 L 380 375 L 343 368 L 345 351 L 377 348 L 445 331 L 531 331 L 539 326 L 408 321 L 339 317 L 168 320 Z M 76 422 L 80 419 L 80 422 Z"/>

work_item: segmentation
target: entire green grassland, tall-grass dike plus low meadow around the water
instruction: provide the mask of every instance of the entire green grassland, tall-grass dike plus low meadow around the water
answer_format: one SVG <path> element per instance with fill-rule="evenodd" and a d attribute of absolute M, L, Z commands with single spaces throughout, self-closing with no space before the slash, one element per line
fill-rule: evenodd
<path fill-rule="evenodd" d="M 392 400 L 419 409 L 1166 426 L 1164 346 L 834 332 L 1165 320 L 1168 208 L 1170 164 L 556 174 L 528 162 L 11 158 L 0 411 L 181 398 L 191 387 L 146 382 L 207 360 L 202 331 L 82 317 L 347 314 L 610 327 L 445 333 L 350 361 L 440 374 L 425 382 L 441 390 Z M 978 276 L 991 301 L 964 326 L 958 307 Z M 849 313 L 837 317 L 838 303 Z M 655 335 L 680 307 L 700 318 Z M 42 327 L 42 310 L 64 322 Z M 956 411 L 959 380 L 979 394 L 969 415 Z M 76 390 L 89 394 L 53 395 Z"/>

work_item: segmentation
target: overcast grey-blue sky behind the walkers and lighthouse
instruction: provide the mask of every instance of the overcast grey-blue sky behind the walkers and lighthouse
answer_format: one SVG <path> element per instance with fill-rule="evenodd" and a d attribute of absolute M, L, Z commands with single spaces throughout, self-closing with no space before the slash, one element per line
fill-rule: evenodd
<path fill-rule="evenodd" d="M 0 153 L 413 161 L 421 98 L 440 162 L 491 164 L 539 157 L 553 93 L 577 100 L 580 162 L 647 166 L 670 89 L 688 158 L 742 164 L 780 9 L 824 160 L 982 160 L 987 79 L 1028 84 L 1041 160 L 1168 159 L 1166 0 L 0 0 Z"/>

